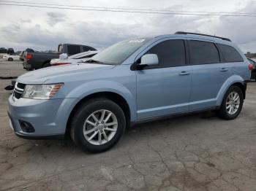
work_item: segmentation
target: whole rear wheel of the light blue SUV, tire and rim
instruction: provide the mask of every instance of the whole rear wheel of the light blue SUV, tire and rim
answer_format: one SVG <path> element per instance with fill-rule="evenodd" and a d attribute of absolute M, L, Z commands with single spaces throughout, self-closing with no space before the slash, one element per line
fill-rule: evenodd
<path fill-rule="evenodd" d="M 231 86 L 225 93 L 218 115 L 225 120 L 233 120 L 240 114 L 243 104 L 244 95 L 241 88 Z"/>

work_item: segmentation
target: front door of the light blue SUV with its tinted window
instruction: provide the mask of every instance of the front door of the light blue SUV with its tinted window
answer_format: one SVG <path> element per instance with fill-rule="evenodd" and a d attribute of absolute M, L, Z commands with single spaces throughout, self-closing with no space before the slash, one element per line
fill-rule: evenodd
<path fill-rule="evenodd" d="M 185 41 L 161 40 L 148 49 L 143 54 L 157 54 L 159 65 L 135 71 L 138 120 L 187 112 L 192 66 L 187 66 Z"/>

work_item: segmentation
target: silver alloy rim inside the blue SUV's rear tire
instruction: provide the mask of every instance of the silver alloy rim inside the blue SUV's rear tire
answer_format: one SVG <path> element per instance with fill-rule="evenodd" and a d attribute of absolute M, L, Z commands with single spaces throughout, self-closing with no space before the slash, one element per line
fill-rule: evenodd
<path fill-rule="evenodd" d="M 240 96 L 236 92 L 231 92 L 227 96 L 226 110 L 228 114 L 236 114 L 240 106 Z"/>

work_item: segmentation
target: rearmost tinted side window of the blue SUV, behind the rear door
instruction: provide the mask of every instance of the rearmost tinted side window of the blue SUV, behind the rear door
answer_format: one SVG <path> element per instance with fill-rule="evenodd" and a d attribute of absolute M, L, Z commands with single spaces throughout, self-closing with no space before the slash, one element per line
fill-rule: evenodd
<path fill-rule="evenodd" d="M 218 44 L 220 52 L 222 52 L 222 55 L 224 57 L 225 62 L 232 63 L 232 62 L 243 62 L 244 59 L 241 57 L 241 55 L 238 53 L 238 51 L 225 44 Z"/>

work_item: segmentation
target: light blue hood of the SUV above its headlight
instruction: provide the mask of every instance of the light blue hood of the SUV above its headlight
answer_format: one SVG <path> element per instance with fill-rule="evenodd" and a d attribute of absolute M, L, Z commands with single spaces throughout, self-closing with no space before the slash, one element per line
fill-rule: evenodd
<path fill-rule="evenodd" d="M 43 84 L 48 79 L 56 77 L 76 76 L 79 74 L 89 73 L 99 70 L 113 69 L 114 65 L 80 63 L 63 66 L 51 66 L 45 69 L 30 71 L 18 77 L 18 82 L 24 84 Z"/>

